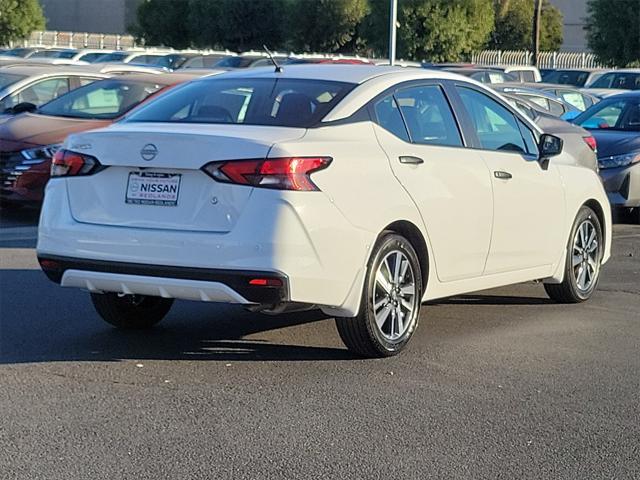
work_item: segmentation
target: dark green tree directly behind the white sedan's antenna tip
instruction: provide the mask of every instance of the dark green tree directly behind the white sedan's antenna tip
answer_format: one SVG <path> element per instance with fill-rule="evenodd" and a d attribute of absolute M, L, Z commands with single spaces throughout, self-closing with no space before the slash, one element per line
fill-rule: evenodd
<path fill-rule="evenodd" d="M 199 47 L 231 50 L 284 46 L 287 0 L 191 0 L 191 38 Z"/>

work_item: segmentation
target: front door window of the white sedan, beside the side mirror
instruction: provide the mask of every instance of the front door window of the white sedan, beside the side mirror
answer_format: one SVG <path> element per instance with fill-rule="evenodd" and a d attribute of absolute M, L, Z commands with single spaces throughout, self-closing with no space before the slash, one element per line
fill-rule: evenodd
<path fill-rule="evenodd" d="M 456 87 L 476 130 L 482 148 L 525 153 L 527 147 L 516 117 L 484 93 Z"/>

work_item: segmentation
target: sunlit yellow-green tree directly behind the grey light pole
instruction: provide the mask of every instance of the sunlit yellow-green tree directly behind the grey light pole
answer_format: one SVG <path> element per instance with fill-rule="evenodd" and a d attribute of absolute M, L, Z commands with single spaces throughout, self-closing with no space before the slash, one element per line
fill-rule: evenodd
<path fill-rule="evenodd" d="M 371 0 L 363 24 L 366 45 L 387 55 L 389 1 Z M 398 7 L 398 57 L 459 61 L 482 48 L 493 30 L 492 0 L 402 0 Z"/>

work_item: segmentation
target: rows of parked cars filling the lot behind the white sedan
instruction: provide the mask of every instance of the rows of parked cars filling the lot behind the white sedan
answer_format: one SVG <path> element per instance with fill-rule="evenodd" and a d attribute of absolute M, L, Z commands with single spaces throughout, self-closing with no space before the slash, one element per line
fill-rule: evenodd
<path fill-rule="evenodd" d="M 50 159 L 67 135 L 118 121 L 140 103 L 196 77 L 273 65 L 273 61 L 285 68 L 296 63 L 384 62 L 329 55 L 270 58 L 264 52 L 45 48 L 1 52 L 0 199 L 4 204 L 39 205 Z M 630 90 L 640 90 L 640 70 L 400 65 L 446 70 L 489 84 L 544 131 L 562 138 L 579 163 L 599 169 L 614 207 L 639 210 L 640 91 Z M 588 154 L 593 151 L 598 163 Z"/>

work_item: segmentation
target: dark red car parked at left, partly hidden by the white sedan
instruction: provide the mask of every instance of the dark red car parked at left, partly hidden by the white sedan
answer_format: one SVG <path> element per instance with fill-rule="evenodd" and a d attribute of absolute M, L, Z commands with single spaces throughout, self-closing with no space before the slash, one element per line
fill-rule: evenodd
<path fill-rule="evenodd" d="M 63 95 L 0 123 L 0 201 L 39 206 L 51 158 L 68 135 L 106 127 L 190 74 L 120 75 Z"/>

